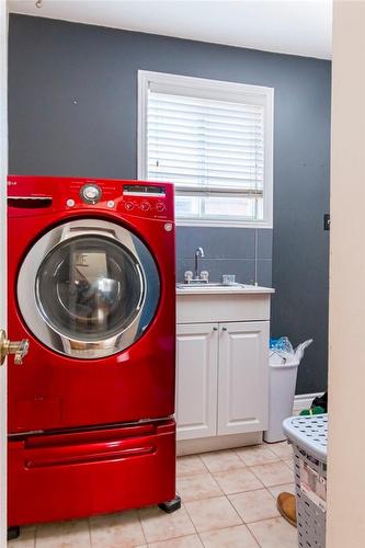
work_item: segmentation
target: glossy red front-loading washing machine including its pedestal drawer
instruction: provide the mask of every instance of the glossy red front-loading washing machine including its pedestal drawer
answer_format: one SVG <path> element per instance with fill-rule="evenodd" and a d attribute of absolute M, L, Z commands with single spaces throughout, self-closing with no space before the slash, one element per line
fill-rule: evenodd
<path fill-rule="evenodd" d="M 175 496 L 171 184 L 8 179 L 9 526 Z"/>

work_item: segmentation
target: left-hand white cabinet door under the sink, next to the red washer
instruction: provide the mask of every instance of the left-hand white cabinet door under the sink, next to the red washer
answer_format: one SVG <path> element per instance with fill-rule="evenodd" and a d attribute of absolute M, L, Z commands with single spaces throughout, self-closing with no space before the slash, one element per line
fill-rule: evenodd
<path fill-rule="evenodd" d="M 217 433 L 218 324 L 178 324 L 178 439 Z"/>

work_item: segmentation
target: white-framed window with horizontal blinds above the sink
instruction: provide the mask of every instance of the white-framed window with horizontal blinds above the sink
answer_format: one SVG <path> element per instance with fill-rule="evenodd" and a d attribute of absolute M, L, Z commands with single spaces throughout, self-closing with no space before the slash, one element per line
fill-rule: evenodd
<path fill-rule="evenodd" d="M 180 225 L 272 227 L 272 88 L 138 71 L 138 178 Z"/>

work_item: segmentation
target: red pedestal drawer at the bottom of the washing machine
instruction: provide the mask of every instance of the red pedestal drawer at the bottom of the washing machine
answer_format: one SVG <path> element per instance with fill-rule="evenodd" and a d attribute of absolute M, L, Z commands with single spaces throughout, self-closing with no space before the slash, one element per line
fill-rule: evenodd
<path fill-rule="evenodd" d="M 175 423 L 9 442 L 8 525 L 158 504 L 175 496 Z"/>

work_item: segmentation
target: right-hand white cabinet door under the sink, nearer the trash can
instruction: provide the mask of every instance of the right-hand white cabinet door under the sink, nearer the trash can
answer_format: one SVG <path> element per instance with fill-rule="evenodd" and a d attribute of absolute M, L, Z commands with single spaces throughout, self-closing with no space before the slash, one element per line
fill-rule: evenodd
<path fill-rule="evenodd" d="M 269 322 L 219 324 L 218 434 L 267 427 Z"/>

